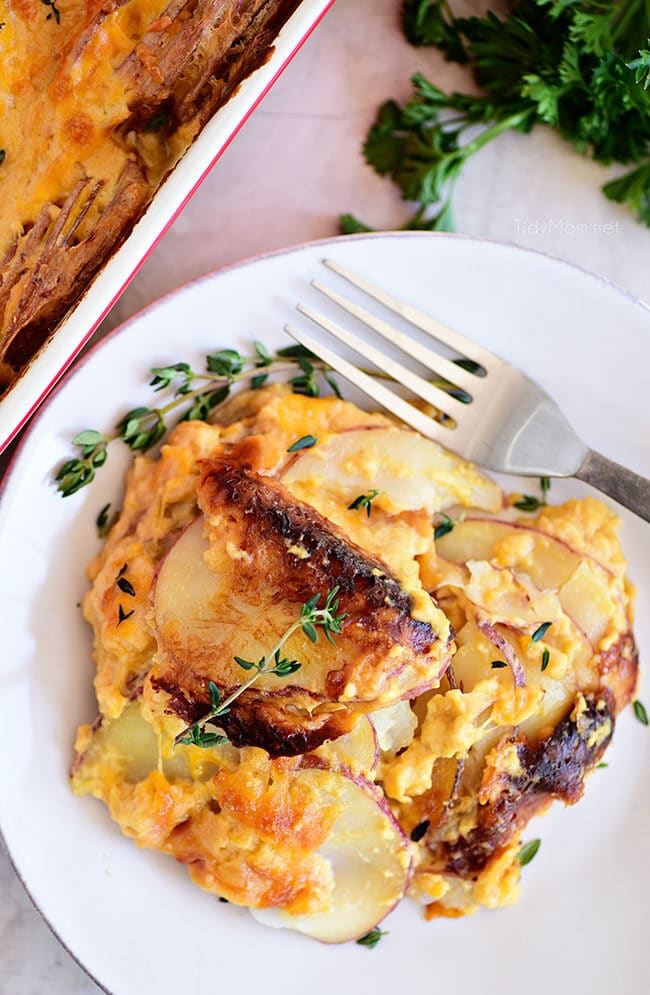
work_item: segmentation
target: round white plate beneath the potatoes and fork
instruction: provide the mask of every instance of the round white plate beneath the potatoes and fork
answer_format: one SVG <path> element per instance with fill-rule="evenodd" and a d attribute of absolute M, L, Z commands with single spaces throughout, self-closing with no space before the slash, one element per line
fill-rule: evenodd
<path fill-rule="evenodd" d="M 348 238 L 217 273 L 148 308 L 54 394 L 14 460 L 0 504 L 0 826 L 15 866 L 61 940 L 114 995 L 641 995 L 650 731 L 631 709 L 608 769 L 590 778 L 584 800 L 555 807 L 531 827 L 543 844 L 523 871 L 519 905 L 427 923 L 404 902 L 374 951 L 258 926 L 192 885 L 171 858 L 138 850 L 99 802 L 69 791 L 75 727 L 95 715 L 90 630 L 76 605 L 98 548 L 95 517 L 109 500 L 119 506 L 129 454 L 115 444 L 95 483 L 66 500 L 53 490 L 52 468 L 69 455 L 76 432 L 109 429 L 128 407 L 150 402 L 150 366 L 198 364 L 207 351 L 253 336 L 277 347 L 299 298 L 328 310 L 308 285 L 323 276 L 325 255 L 517 363 L 551 390 L 587 442 L 650 474 L 650 312 L 545 256 L 458 236 Z M 555 482 L 551 496 L 586 491 Z M 623 514 L 623 546 L 641 592 L 642 651 L 650 649 L 649 538 L 647 526 Z M 644 680 L 640 696 L 649 699 Z"/>

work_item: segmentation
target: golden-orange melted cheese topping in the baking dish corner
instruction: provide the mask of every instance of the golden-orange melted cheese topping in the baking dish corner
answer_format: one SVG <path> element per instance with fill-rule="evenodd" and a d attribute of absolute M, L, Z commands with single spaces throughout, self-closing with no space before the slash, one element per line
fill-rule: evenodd
<path fill-rule="evenodd" d="M 113 140 L 131 113 L 120 70 L 166 6 L 89 0 L 59 11 L 42 0 L 0 2 L 0 257 L 43 204 L 60 204 L 78 180 L 102 182 L 100 204 L 108 203 L 129 155 Z M 154 141 L 160 171 L 171 150 Z"/>

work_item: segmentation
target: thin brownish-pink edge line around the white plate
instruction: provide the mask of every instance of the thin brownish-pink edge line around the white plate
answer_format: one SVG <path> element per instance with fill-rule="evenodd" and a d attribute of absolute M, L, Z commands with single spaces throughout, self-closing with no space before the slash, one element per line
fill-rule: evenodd
<path fill-rule="evenodd" d="M 151 312 L 154 312 L 157 308 L 161 306 L 166 306 L 168 301 L 172 300 L 177 296 L 180 296 L 181 294 L 187 291 L 192 290 L 195 286 L 199 284 L 211 282 L 213 280 L 218 279 L 222 275 L 225 276 L 233 271 L 237 271 L 246 266 L 253 266 L 256 265 L 257 263 L 265 262 L 270 259 L 289 256 L 292 255 L 293 253 L 300 253 L 302 251 L 321 246 L 324 247 L 327 245 L 337 245 L 340 243 L 347 244 L 352 241 L 362 242 L 362 241 L 377 241 L 382 239 L 385 241 L 388 240 L 393 241 L 397 239 L 421 241 L 431 238 L 435 238 L 438 241 L 453 240 L 453 241 L 470 242 L 479 245 L 484 245 L 487 246 L 488 248 L 512 249 L 515 250 L 515 252 L 517 253 L 521 254 L 525 253 L 527 255 L 532 255 L 541 259 L 550 260 L 552 263 L 561 264 L 563 267 L 569 268 L 574 272 L 580 273 L 582 276 L 586 276 L 589 280 L 591 279 L 595 280 L 601 286 L 604 286 L 610 290 L 615 291 L 617 294 L 621 295 L 624 299 L 626 299 L 630 303 L 639 305 L 643 311 L 647 312 L 650 315 L 650 303 L 646 303 L 644 300 L 642 300 L 640 297 L 637 297 L 631 291 L 626 290 L 624 287 L 621 287 L 613 280 L 603 276 L 602 274 L 594 270 L 590 270 L 587 267 L 580 265 L 579 263 L 574 263 L 568 259 L 563 258 L 562 256 L 556 256 L 550 252 L 545 252 L 540 249 L 531 248 L 529 246 L 519 245 L 516 242 L 509 240 L 492 239 L 487 236 L 466 235 L 458 232 L 426 232 L 426 231 L 425 232 L 422 231 L 363 232 L 355 235 L 337 235 L 337 236 L 324 237 L 320 239 L 311 239 L 304 242 L 298 242 L 281 249 L 274 249 L 268 252 L 257 253 L 255 255 L 245 257 L 244 259 L 238 260 L 236 262 L 229 263 L 225 266 L 220 266 L 215 269 L 208 270 L 207 272 L 200 274 L 199 276 L 196 276 L 191 280 L 188 280 L 185 283 L 180 284 L 177 287 L 172 288 L 162 296 L 143 305 L 132 315 L 129 315 L 129 317 L 125 318 L 124 321 L 116 325 L 115 328 L 110 329 L 110 331 L 108 331 L 105 335 L 99 338 L 96 342 L 92 343 L 92 345 L 90 345 L 83 352 L 83 354 L 79 356 L 76 360 L 73 359 L 71 364 L 65 370 L 65 372 L 59 377 L 54 387 L 52 387 L 49 390 L 46 398 L 39 404 L 38 408 L 34 411 L 34 413 L 29 418 L 25 426 L 21 430 L 19 430 L 20 434 L 16 444 L 16 448 L 11 454 L 11 457 L 9 459 L 7 466 L 5 467 L 2 477 L 0 477 L 0 505 L 2 504 L 6 489 L 10 484 L 11 480 L 13 479 L 14 473 L 16 472 L 18 460 L 22 455 L 25 446 L 28 444 L 29 439 L 34 430 L 39 426 L 41 420 L 46 416 L 50 405 L 58 396 L 59 392 L 66 387 L 66 385 L 70 380 L 72 380 L 78 373 L 81 372 L 81 370 L 86 365 L 88 360 L 93 358 L 95 354 L 105 344 L 112 341 L 114 338 L 117 338 L 118 336 L 128 332 L 131 325 L 136 324 L 145 315 L 149 315 Z M 38 901 L 32 894 L 30 888 L 27 886 L 19 868 L 17 867 L 14 861 L 9 845 L 5 839 L 1 824 L 0 824 L 0 848 L 6 854 L 7 859 L 9 861 L 9 865 L 12 868 L 13 872 L 15 873 L 18 881 L 20 882 L 20 885 L 23 888 L 25 894 L 27 895 L 27 898 L 29 899 L 32 907 L 36 910 L 41 921 L 45 923 L 50 933 L 55 937 L 57 942 L 60 943 L 63 949 L 78 965 L 78 967 L 81 968 L 86 977 L 89 978 L 93 982 L 93 984 L 97 986 L 100 992 L 103 992 L 104 995 L 114 995 L 114 992 L 111 989 L 107 988 L 104 984 L 102 984 L 102 982 L 99 981 L 97 977 L 95 977 L 91 969 L 86 964 L 84 964 L 80 960 L 80 958 L 75 954 L 75 952 L 68 946 L 65 940 L 61 937 L 57 927 L 41 909 L 40 905 L 38 904 Z"/>

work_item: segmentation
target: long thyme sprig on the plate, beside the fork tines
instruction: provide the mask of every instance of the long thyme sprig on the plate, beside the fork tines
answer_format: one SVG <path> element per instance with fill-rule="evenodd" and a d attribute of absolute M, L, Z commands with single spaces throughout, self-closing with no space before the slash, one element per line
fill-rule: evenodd
<path fill-rule="evenodd" d="M 171 391 L 171 399 L 161 407 L 133 408 L 118 421 L 112 433 L 86 429 L 76 435 L 72 444 L 79 449 L 78 455 L 66 460 L 56 474 L 59 493 L 70 497 L 90 484 L 96 471 L 106 462 L 112 442 L 119 439 L 132 452 L 146 452 L 167 432 L 172 412 L 185 406 L 181 421 L 206 421 L 238 383 L 248 380 L 253 389 L 258 389 L 270 373 L 295 371 L 298 366 L 299 375 L 289 380 L 295 394 L 316 397 L 321 377 L 338 397 L 341 396 L 329 368 L 303 346 L 288 346 L 272 355 L 262 342 L 256 341 L 253 345 L 252 356 L 235 349 L 211 353 L 206 357 L 205 372 L 197 372 L 185 362 L 154 366 L 149 385 L 155 393 Z"/>

